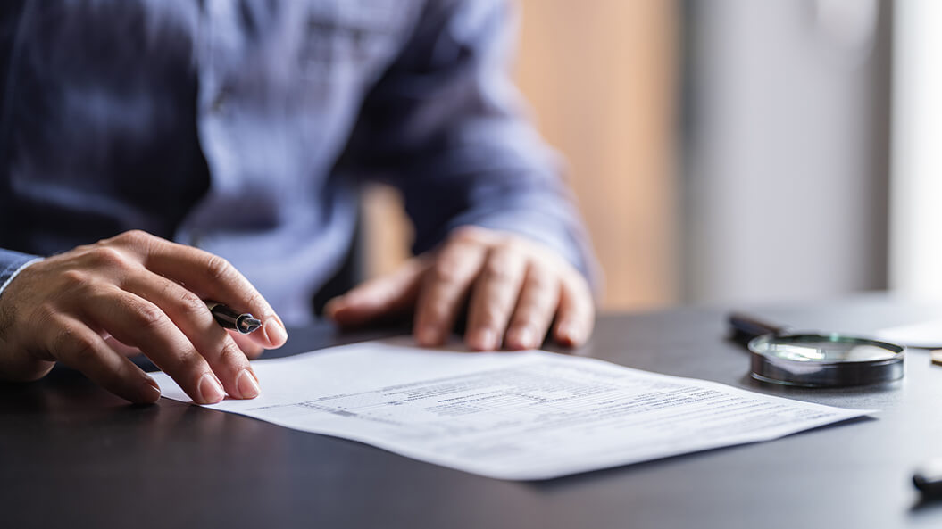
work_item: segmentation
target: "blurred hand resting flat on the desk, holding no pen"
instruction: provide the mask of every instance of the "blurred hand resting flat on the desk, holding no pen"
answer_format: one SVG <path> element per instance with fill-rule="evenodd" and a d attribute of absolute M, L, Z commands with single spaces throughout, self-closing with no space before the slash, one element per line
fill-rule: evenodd
<path fill-rule="evenodd" d="M 331 300 L 326 313 L 344 327 L 414 310 L 420 345 L 442 345 L 467 304 L 465 343 L 481 351 L 529 349 L 552 337 L 582 345 L 592 333 L 593 298 L 571 264 L 523 237 L 477 227 L 456 230 L 441 248 L 390 276 Z"/>

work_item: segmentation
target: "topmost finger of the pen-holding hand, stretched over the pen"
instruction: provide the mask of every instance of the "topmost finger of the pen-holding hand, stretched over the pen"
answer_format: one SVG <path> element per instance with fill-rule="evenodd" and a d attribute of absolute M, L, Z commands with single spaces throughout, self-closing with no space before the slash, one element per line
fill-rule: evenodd
<path fill-rule="evenodd" d="M 142 264 L 154 273 L 183 283 L 187 290 L 203 299 L 219 301 L 239 313 L 252 313 L 262 320 L 261 332 L 252 333 L 252 339 L 260 345 L 268 348 L 284 345 L 287 340 L 284 323 L 265 297 L 225 259 L 144 232 L 126 232 L 120 237 L 122 244 L 143 255 Z"/>

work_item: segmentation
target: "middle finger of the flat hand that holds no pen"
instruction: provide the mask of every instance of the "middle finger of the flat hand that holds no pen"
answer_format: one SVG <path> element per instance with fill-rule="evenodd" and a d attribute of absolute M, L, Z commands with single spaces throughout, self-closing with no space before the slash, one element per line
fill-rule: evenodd
<path fill-rule="evenodd" d="M 527 258 L 509 245 L 488 252 L 468 306 L 468 346 L 479 351 L 500 347 L 526 269 Z"/>

